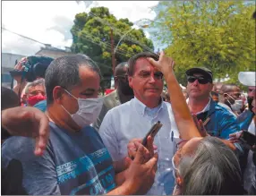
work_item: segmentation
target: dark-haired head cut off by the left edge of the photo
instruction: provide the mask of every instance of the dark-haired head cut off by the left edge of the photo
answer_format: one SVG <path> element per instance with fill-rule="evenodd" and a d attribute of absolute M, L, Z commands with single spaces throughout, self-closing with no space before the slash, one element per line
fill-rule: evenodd
<path fill-rule="evenodd" d="M 12 107 L 19 107 L 20 106 L 20 98 L 18 95 L 12 90 L 5 87 L 2 87 L 2 107 L 1 111 L 4 109 L 12 108 Z"/>

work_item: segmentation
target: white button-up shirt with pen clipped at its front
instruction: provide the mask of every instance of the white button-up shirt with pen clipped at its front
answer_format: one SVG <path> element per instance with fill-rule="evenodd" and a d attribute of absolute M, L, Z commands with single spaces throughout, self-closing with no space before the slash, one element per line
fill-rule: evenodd
<path fill-rule="evenodd" d="M 174 114 L 169 103 L 153 109 L 146 107 L 137 98 L 114 107 L 107 112 L 99 128 L 99 134 L 114 161 L 127 156 L 127 144 L 134 138 L 143 139 L 151 126 L 160 121 L 163 126 L 155 136 L 158 146 L 158 172 L 148 194 L 172 194 L 175 185 L 172 158 L 176 143 L 180 141 Z M 172 141 L 172 131 L 174 137 Z"/>

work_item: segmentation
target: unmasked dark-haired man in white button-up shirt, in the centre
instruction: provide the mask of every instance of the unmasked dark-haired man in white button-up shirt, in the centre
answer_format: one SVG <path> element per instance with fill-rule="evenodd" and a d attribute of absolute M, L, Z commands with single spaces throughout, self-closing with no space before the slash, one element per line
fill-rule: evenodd
<path fill-rule="evenodd" d="M 158 173 L 148 194 L 171 194 L 175 179 L 171 158 L 176 151 L 178 131 L 171 105 L 161 98 L 163 74 L 149 63 L 149 57 L 158 55 L 143 52 L 129 60 L 129 84 L 134 98 L 107 112 L 99 128 L 111 157 L 120 160 L 127 156 L 127 144 L 133 138 L 144 138 L 151 126 L 160 121 L 163 126 L 155 136 L 158 146 Z"/>

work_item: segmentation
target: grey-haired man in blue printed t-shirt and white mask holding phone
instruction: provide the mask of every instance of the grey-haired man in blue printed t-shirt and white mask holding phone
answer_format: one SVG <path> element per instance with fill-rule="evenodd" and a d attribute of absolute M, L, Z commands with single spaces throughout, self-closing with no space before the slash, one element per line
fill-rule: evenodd
<path fill-rule="evenodd" d="M 36 157 L 32 139 L 13 136 L 5 141 L 2 166 L 7 168 L 13 160 L 16 164 L 15 172 L 7 174 L 13 179 L 8 186 L 21 186 L 22 194 L 147 192 L 154 182 L 158 161 L 153 148 L 149 153 L 138 144 L 139 156 L 132 163 L 126 158 L 129 167 L 115 175 L 116 165 L 98 132 L 89 126 L 102 107 L 98 98 L 98 66 L 86 55 L 57 58 L 47 68 L 46 88 L 50 121 L 47 149 L 41 157 Z"/>

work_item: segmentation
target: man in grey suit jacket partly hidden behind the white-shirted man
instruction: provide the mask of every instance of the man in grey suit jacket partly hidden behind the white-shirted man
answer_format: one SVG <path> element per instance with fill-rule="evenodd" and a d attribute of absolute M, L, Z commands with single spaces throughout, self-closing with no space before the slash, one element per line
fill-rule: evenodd
<path fill-rule="evenodd" d="M 98 115 L 97 121 L 93 124 L 93 127 L 97 131 L 108 110 L 130 101 L 134 97 L 133 90 L 129 86 L 127 69 L 127 62 L 118 64 L 115 67 L 116 89 L 103 98 L 103 107 Z"/>

